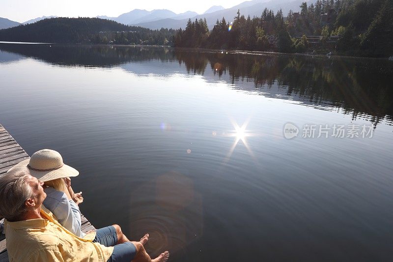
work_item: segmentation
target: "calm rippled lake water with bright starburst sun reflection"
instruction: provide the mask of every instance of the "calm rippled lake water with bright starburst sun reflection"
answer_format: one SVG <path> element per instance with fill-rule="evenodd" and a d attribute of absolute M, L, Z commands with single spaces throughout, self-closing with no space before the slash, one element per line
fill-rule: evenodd
<path fill-rule="evenodd" d="M 80 171 L 96 227 L 173 262 L 392 259 L 392 60 L 0 51 L 0 123 Z"/>

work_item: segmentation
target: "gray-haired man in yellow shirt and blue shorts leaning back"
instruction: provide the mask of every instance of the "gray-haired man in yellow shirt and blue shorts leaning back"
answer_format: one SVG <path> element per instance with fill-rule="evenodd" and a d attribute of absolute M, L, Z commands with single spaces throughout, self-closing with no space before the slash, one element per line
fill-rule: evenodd
<path fill-rule="evenodd" d="M 117 225 L 78 237 L 63 228 L 42 203 L 46 193 L 43 183 L 27 168 L 13 169 L 0 175 L 0 214 L 10 261 L 57 262 L 166 262 L 169 252 L 151 260 L 143 245 L 129 241 Z M 91 237 L 95 236 L 95 241 Z"/>

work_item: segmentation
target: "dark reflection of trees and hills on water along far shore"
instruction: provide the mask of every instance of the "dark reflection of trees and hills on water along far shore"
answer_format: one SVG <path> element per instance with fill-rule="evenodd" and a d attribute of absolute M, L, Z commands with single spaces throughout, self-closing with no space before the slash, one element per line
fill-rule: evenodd
<path fill-rule="evenodd" d="M 366 114 L 375 124 L 385 117 L 392 121 L 393 61 L 387 59 L 221 54 L 113 46 L 75 48 L 54 45 L 48 48 L 48 45 L 2 44 L 1 51 L 65 66 L 112 67 L 128 62 L 178 61 L 185 65 L 188 73 L 209 75 L 212 72 L 231 84 L 239 81 L 254 84 L 235 88 L 262 91 L 265 96 L 282 95 L 282 99 L 295 99 L 306 104 L 342 108 L 353 118 Z"/>

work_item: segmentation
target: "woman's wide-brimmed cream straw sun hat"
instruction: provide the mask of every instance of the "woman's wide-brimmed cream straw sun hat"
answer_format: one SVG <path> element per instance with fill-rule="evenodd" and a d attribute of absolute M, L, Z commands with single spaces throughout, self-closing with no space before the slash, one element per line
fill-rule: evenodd
<path fill-rule="evenodd" d="M 63 158 L 59 152 L 51 149 L 42 149 L 35 152 L 30 159 L 23 160 L 8 171 L 21 167 L 27 167 L 30 175 L 41 182 L 79 175 L 78 170 L 63 163 Z"/>

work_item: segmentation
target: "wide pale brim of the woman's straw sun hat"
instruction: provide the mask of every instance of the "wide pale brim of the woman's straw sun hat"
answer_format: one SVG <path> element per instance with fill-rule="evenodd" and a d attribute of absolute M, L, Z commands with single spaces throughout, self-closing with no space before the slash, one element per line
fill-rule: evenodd
<path fill-rule="evenodd" d="M 28 168 L 28 163 L 30 159 L 25 159 L 18 164 L 16 164 L 13 168 L 11 168 L 8 171 L 11 171 L 13 169 L 17 168 Z M 79 175 L 79 171 L 76 170 L 75 168 L 72 168 L 67 165 L 63 165 L 61 168 L 56 169 L 56 170 L 51 170 L 51 171 L 36 171 L 28 168 L 28 171 L 31 176 L 36 177 L 38 180 L 41 182 L 46 182 L 46 181 L 51 181 L 57 178 L 63 178 L 63 177 L 73 177 Z"/>

